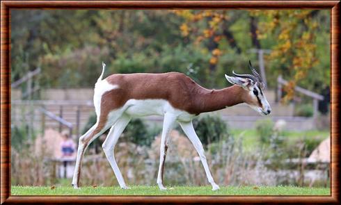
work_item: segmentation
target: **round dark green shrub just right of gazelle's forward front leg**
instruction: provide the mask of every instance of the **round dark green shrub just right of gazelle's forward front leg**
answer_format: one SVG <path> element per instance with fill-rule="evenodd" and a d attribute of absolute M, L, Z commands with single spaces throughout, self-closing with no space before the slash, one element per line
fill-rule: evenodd
<path fill-rule="evenodd" d="M 193 127 L 205 147 L 213 142 L 227 139 L 230 136 L 228 125 L 217 116 L 205 115 L 197 120 L 193 120 Z M 177 129 L 184 134 L 179 126 Z"/>

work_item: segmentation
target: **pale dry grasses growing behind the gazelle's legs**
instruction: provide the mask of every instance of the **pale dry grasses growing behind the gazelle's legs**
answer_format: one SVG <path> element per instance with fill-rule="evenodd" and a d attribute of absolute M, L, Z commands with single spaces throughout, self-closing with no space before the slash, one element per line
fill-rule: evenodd
<path fill-rule="evenodd" d="M 160 139 L 161 136 L 157 136 L 151 147 L 140 147 L 131 142 L 116 145 L 115 158 L 128 185 L 156 184 Z M 38 145 L 40 149 L 36 151 Z M 20 151 L 12 149 L 13 185 L 51 186 L 58 182 L 56 164 L 47 160 L 54 156 L 54 151 L 47 149 L 46 145 L 40 138 L 34 146 L 29 145 Z M 220 185 L 273 185 L 276 181 L 262 163 L 262 154 L 244 152 L 241 140 L 221 140 L 207 149 L 210 170 Z M 81 186 L 117 186 L 104 153 L 90 153 L 87 151 L 84 157 Z M 196 150 L 178 131 L 170 131 L 165 166 L 164 180 L 168 185 L 207 185 L 205 170 Z"/>

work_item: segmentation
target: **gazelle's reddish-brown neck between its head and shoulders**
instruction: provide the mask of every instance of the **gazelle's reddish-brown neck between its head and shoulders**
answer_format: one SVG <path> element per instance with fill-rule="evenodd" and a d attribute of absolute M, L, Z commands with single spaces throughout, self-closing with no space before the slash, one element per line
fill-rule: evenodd
<path fill-rule="evenodd" d="M 221 90 L 211 90 L 197 98 L 200 113 L 221 110 L 244 102 L 246 91 L 238 85 Z"/>

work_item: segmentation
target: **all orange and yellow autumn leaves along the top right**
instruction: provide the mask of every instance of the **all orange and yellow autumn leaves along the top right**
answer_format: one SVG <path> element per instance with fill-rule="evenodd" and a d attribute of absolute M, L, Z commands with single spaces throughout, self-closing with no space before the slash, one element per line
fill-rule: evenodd
<path fill-rule="evenodd" d="M 223 53 L 230 49 L 239 51 L 229 26 L 233 13 L 225 10 L 175 10 L 176 15 L 184 18 L 180 31 L 184 37 L 191 38 L 194 44 L 206 47 L 211 54 L 211 67 L 219 62 Z M 317 56 L 317 35 L 319 32 L 317 10 L 252 10 L 248 17 L 256 19 L 257 28 L 246 33 L 246 38 L 255 38 L 253 47 L 271 49 L 266 56 L 269 63 L 280 65 L 280 72 L 289 79 L 285 86 L 285 101 L 292 99 L 294 86 L 306 78 L 308 72 L 319 63 Z M 247 18 L 246 18 L 247 21 Z M 253 22 L 251 22 L 251 26 Z M 276 39 L 271 47 L 262 48 L 259 44 L 269 39 Z M 222 40 L 230 44 L 230 49 L 219 49 Z M 243 43 L 243 42 L 239 42 Z M 240 51 L 239 51 L 240 52 Z"/>

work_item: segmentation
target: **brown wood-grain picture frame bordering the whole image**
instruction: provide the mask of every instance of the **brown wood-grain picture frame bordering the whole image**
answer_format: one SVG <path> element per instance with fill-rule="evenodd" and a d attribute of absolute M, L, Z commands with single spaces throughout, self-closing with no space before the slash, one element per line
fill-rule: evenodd
<path fill-rule="evenodd" d="M 329 9 L 331 10 L 331 195 L 328 196 L 13 196 L 10 195 L 11 9 Z M 340 204 L 340 1 L 1 1 L 1 204 L 331 203 Z"/>

